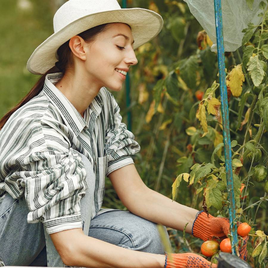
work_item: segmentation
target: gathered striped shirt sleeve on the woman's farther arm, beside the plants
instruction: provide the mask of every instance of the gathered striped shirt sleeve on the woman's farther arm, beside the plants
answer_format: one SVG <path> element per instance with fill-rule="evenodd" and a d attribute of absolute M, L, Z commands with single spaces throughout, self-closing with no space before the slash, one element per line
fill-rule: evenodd
<path fill-rule="evenodd" d="M 141 149 L 134 138 L 134 134 L 127 130 L 126 124 L 122 123 L 120 108 L 112 96 L 105 137 L 105 150 L 108 161 L 106 176 L 116 169 L 134 164 L 131 156 Z"/>

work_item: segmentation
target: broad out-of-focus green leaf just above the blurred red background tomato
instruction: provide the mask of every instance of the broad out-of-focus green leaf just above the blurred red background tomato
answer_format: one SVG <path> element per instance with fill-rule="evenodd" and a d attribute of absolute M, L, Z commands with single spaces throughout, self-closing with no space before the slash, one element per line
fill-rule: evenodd
<path fill-rule="evenodd" d="M 197 56 L 192 55 L 180 66 L 180 76 L 191 89 L 196 88 Z"/>

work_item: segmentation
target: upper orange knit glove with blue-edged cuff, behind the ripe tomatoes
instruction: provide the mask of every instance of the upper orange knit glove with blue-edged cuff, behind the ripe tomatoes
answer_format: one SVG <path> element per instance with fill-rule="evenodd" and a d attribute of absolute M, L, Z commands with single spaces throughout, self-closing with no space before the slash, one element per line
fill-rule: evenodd
<path fill-rule="evenodd" d="M 228 218 L 213 217 L 211 214 L 208 214 L 207 216 L 204 211 L 199 211 L 194 220 L 192 235 L 201 238 L 204 241 L 217 240 L 216 238 L 212 239 L 212 237 L 218 236 L 219 238 L 226 238 L 229 229 L 230 223 Z M 244 261 L 247 261 L 248 238 L 249 236 L 243 236 L 243 244 L 239 246 L 240 258 Z"/>

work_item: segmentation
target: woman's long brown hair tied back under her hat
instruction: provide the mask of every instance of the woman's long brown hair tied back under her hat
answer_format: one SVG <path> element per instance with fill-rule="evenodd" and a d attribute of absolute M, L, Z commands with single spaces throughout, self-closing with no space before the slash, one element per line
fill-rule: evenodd
<path fill-rule="evenodd" d="M 82 37 L 86 42 L 93 42 L 97 35 L 101 32 L 104 32 L 107 28 L 106 24 L 101 24 L 96 27 L 90 28 L 84 32 L 81 32 L 78 34 L 80 37 Z M 73 57 L 72 52 L 69 47 L 69 41 L 62 44 L 59 49 L 57 50 L 57 54 L 59 56 L 59 61 L 55 63 L 55 66 L 50 68 L 45 74 L 43 74 L 39 80 L 36 82 L 36 84 L 32 87 L 31 91 L 10 111 L 8 111 L 1 119 L 0 119 L 0 130 L 4 126 L 4 124 L 7 122 L 7 120 L 10 118 L 10 116 L 18 110 L 21 106 L 26 104 L 30 99 L 37 96 L 40 91 L 43 89 L 45 78 L 47 74 L 53 74 L 57 73 L 59 71 L 65 73 L 67 68 L 70 68 L 73 65 Z"/>

